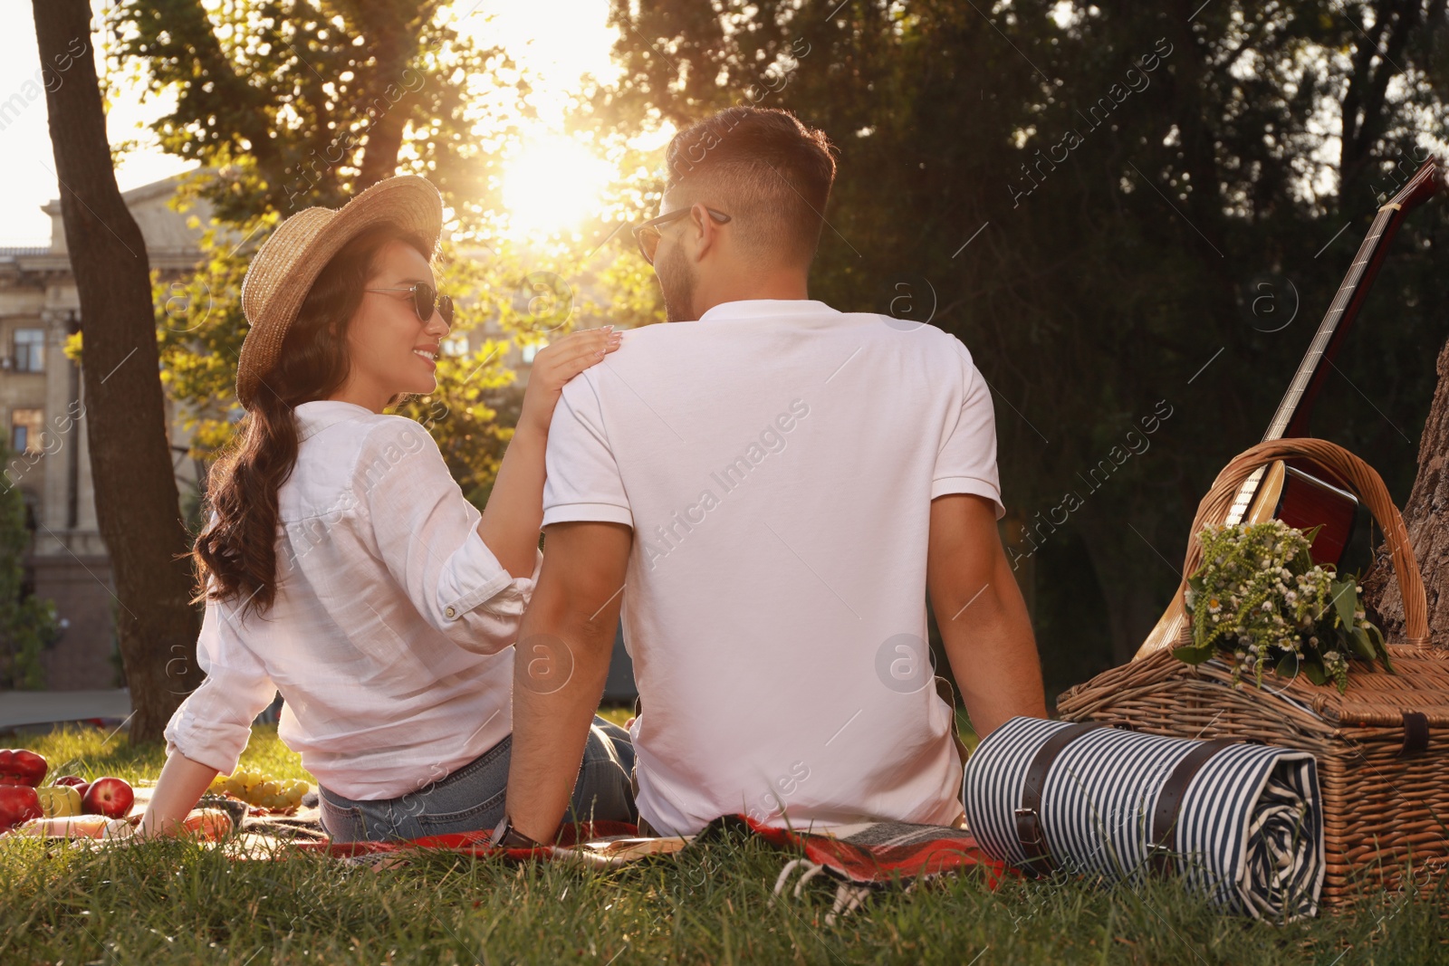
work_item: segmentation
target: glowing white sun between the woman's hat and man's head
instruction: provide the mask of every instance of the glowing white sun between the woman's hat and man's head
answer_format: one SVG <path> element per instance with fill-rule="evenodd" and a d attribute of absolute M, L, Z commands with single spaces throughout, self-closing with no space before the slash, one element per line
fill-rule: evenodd
<path fill-rule="evenodd" d="M 597 214 L 611 174 L 609 162 L 578 140 L 548 135 L 529 142 L 503 177 L 513 232 L 546 235 Z"/>

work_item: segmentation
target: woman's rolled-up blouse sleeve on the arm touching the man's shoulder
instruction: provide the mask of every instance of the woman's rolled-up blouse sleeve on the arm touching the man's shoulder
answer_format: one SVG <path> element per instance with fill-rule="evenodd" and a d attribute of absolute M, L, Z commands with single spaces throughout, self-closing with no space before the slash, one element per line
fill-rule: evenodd
<path fill-rule="evenodd" d="M 362 445 L 352 488 L 378 558 L 423 620 L 475 653 L 517 640 L 543 553 L 529 576 L 503 569 L 478 536 L 483 514 L 426 429 L 406 417 L 380 423 Z"/>

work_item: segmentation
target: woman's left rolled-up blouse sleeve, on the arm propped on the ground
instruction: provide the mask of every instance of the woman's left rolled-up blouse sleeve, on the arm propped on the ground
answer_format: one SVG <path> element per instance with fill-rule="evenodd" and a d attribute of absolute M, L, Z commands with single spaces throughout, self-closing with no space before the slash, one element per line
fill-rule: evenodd
<path fill-rule="evenodd" d="M 277 685 L 241 636 L 225 604 L 207 601 L 196 659 L 206 681 L 187 695 L 165 727 L 167 755 L 181 752 L 223 775 L 236 770 L 252 721 L 272 702 Z"/>

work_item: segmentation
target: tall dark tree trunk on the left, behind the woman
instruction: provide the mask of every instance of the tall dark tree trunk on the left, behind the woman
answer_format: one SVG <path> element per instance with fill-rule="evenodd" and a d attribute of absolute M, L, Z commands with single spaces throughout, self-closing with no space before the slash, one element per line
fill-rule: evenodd
<path fill-rule="evenodd" d="M 116 584 L 130 739 L 161 737 L 200 684 L 197 610 L 158 378 L 151 269 L 116 187 L 85 0 L 33 0 L 65 243 L 81 303 L 96 516 Z M 51 90 L 54 87 L 54 90 Z"/>

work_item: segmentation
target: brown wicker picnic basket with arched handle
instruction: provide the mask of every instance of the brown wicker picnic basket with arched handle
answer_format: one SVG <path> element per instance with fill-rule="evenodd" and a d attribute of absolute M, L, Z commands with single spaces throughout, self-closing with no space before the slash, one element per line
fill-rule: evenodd
<path fill-rule="evenodd" d="M 1230 658 L 1187 665 L 1172 647 L 1106 671 L 1058 698 L 1069 721 L 1113 721 L 1151 734 L 1258 740 L 1311 752 L 1323 789 L 1327 875 L 1323 904 L 1350 907 L 1379 888 L 1403 885 L 1449 863 L 1449 653 L 1429 640 L 1424 585 L 1408 533 L 1379 475 L 1353 453 L 1321 439 L 1279 439 L 1240 453 L 1198 505 L 1184 578 L 1201 560 L 1197 533 L 1222 523 L 1239 487 L 1261 465 L 1308 458 L 1368 505 L 1392 552 L 1404 598 L 1403 639 L 1388 652 L 1397 673 L 1353 662 L 1346 694 L 1268 673 L 1232 686 Z M 1178 587 L 1181 595 L 1187 582 Z"/>

